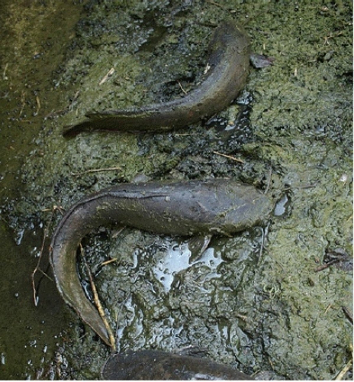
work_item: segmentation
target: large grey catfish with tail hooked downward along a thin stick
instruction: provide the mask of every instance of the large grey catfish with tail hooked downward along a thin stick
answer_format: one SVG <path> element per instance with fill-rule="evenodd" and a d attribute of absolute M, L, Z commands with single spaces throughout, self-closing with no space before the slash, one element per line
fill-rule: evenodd
<path fill-rule="evenodd" d="M 76 271 L 82 238 L 100 226 L 130 226 L 170 235 L 232 235 L 269 214 L 272 203 L 253 186 L 227 179 L 121 184 L 84 197 L 71 207 L 51 242 L 56 285 L 66 303 L 111 345 Z"/>

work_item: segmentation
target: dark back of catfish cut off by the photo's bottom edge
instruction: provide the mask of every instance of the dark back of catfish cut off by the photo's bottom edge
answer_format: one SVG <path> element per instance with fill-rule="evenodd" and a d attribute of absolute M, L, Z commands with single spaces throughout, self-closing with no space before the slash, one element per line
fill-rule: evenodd
<path fill-rule="evenodd" d="M 104 380 L 253 380 L 206 358 L 157 350 L 115 354 L 102 369 Z"/>

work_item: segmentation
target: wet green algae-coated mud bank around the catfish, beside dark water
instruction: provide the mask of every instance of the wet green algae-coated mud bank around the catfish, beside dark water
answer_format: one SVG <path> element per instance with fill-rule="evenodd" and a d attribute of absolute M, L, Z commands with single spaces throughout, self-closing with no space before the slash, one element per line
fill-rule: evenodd
<path fill-rule="evenodd" d="M 67 209 L 84 194 L 138 174 L 231 176 L 269 184 L 275 197 L 291 199 L 288 213 L 264 227 L 264 237 L 257 229 L 212 241 L 224 261 L 216 270 L 193 264 L 178 272 L 169 293 L 153 269 L 166 259 L 166 246 L 180 242 L 135 230 L 90 237 L 88 261 L 117 325 L 119 350 L 197 346 L 244 372 L 298 380 L 333 379 L 351 359 L 352 327 L 342 306 L 352 310 L 352 274 L 339 267 L 315 272 L 328 251 L 352 253 L 351 7 L 305 0 L 87 6 L 55 74 L 56 110 L 64 112 L 45 121 L 32 144 L 13 225 L 14 216 L 19 230 L 36 219 L 48 222 L 43 210 Z M 211 123 L 156 136 L 61 137 L 62 127 L 87 111 L 183 96 L 179 83 L 192 89 L 206 65 L 209 25 L 235 16 L 253 50 L 275 58 L 251 71 L 246 90 L 254 99 L 244 135 L 225 136 Z M 234 119 L 235 110 L 221 115 Z M 117 260 L 102 268 L 110 258 Z M 72 320 L 71 344 L 61 349 L 62 377 L 97 378 L 108 351 Z"/>

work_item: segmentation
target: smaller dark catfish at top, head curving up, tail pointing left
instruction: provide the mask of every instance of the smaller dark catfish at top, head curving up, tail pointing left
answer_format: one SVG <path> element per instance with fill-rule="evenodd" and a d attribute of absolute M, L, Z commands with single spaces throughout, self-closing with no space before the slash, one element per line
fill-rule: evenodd
<path fill-rule="evenodd" d="M 142 108 L 89 113 L 86 120 L 64 128 L 64 136 L 97 129 L 164 131 L 210 117 L 227 107 L 245 85 L 250 44 L 245 31 L 232 22 L 216 28 L 209 45 L 209 70 L 204 81 L 185 97 Z"/>

